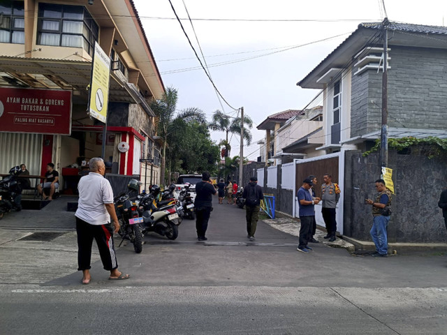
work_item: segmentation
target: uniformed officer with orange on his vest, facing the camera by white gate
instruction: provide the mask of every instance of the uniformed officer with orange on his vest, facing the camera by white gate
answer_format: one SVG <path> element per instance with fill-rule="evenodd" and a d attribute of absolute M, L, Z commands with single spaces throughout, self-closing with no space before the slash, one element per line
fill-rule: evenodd
<path fill-rule="evenodd" d="M 332 176 L 328 173 L 323 174 L 324 184 L 321 185 L 321 200 L 323 208 L 321 214 L 328 232 L 325 239 L 335 241 L 335 232 L 337 232 L 337 221 L 335 220 L 335 208 L 340 198 L 340 188 L 338 184 L 332 183 Z"/>

